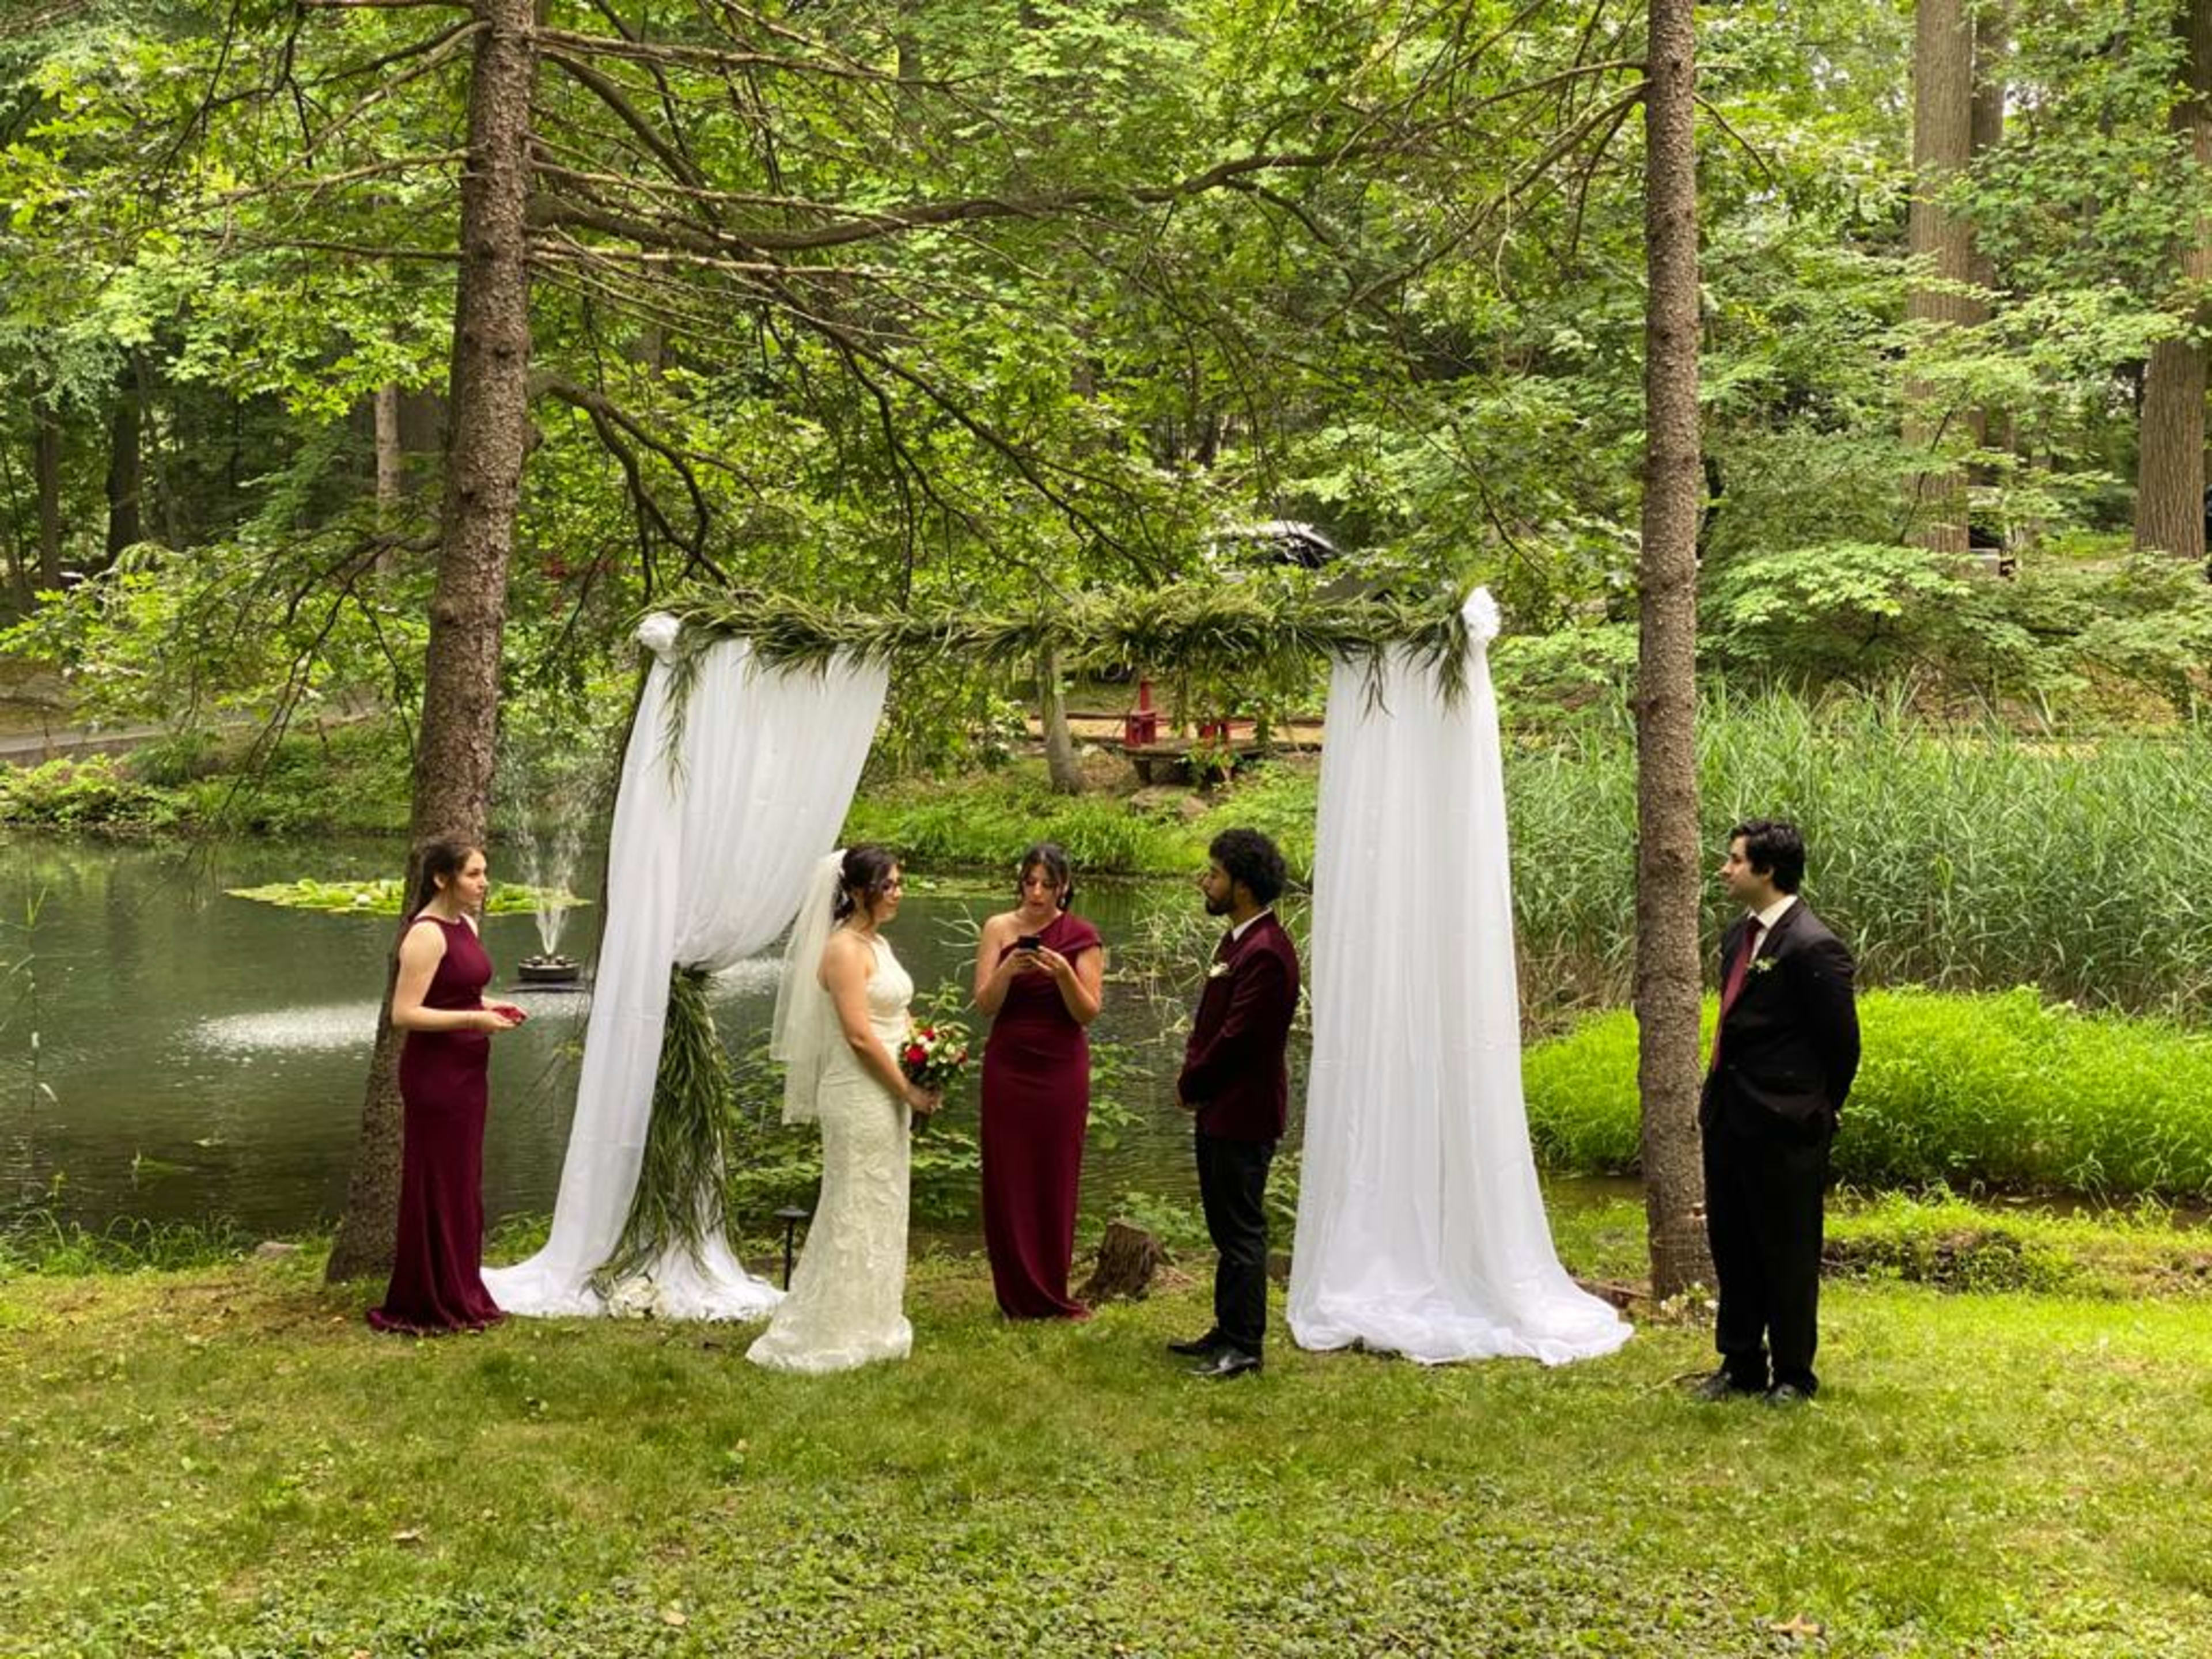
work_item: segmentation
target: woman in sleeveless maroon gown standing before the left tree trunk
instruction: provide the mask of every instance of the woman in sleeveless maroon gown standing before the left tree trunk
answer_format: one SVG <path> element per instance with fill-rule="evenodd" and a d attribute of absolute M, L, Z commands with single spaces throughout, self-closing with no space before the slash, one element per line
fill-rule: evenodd
<path fill-rule="evenodd" d="M 416 920 L 400 940 L 392 1024 L 400 1046 L 400 1234 L 380 1332 L 460 1332 L 504 1314 L 484 1290 L 484 1068 L 491 1033 L 522 1024 L 511 1002 L 484 1002 L 491 958 L 476 936 L 484 854 L 436 843 L 422 854 Z"/>

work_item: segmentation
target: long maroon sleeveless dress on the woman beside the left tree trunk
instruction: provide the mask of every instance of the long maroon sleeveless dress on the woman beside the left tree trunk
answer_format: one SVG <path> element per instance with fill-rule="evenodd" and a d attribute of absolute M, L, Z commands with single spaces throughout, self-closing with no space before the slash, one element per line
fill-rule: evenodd
<path fill-rule="evenodd" d="M 476 929 L 438 922 L 445 958 L 425 1009 L 476 1009 L 491 980 Z M 482 1031 L 409 1031 L 400 1044 L 400 1237 L 380 1332 L 462 1332 L 504 1318 L 484 1290 L 484 1095 L 491 1037 Z"/>

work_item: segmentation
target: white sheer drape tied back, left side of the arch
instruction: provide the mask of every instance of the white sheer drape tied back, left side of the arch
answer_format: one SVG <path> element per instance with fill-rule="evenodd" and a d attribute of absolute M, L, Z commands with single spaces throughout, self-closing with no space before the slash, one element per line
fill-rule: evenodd
<path fill-rule="evenodd" d="M 717 644 L 697 664 L 670 757 L 675 624 L 648 617 L 637 637 L 659 661 L 615 796 L 608 909 L 553 1237 L 529 1261 L 484 1270 L 484 1287 L 511 1314 L 754 1318 L 781 1292 L 748 1274 L 721 1237 L 703 1261 L 681 1245 L 664 1250 L 604 1301 L 591 1276 L 622 1237 L 644 1161 L 668 971 L 726 969 L 790 925 L 852 803 L 885 670 L 847 659 L 821 672 L 781 670 L 759 664 L 743 639 Z"/>

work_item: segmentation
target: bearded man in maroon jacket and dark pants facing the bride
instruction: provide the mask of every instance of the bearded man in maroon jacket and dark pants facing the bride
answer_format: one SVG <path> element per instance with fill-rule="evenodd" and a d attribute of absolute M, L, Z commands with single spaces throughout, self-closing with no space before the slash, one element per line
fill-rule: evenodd
<path fill-rule="evenodd" d="M 1199 1199 L 1212 1234 L 1214 1327 L 1168 1352 L 1199 1360 L 1192 1376 L 1261 1367 L 1267 1334 L 1267 1166 L 1290 1115 L 1290 1015 L 1298 951 L 1274 918 L 1283 854 L 1259 830 L 1223 830 L 1199 891 L 1230 931 L 1206 969 L 1175 1102 L 1197 1117 Z"/>

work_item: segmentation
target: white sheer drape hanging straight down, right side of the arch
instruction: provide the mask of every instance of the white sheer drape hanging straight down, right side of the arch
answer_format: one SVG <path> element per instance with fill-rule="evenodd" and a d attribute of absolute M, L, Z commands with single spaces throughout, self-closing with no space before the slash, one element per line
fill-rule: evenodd
<path fill-rule="evenodd" d="M 1467 695 L 1398 657 L 1329 679 L 1314 834 L 1314 1057 L 1290 1274 L 1301 1347 L 1444 1363 L 1608 1354 L 1528 1150 L 1489 593 Z"/>

